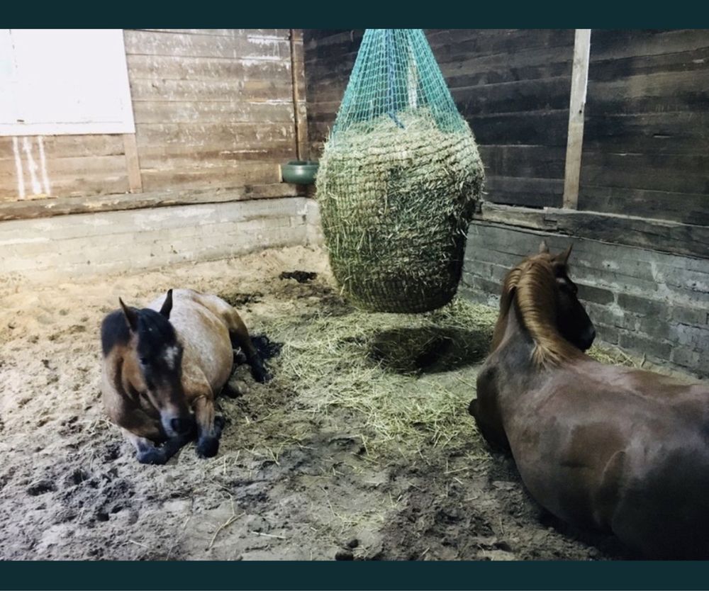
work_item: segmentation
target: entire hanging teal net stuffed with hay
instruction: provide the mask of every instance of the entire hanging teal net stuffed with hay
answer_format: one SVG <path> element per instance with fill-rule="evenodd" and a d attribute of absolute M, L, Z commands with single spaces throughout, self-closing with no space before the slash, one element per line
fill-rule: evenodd
<path fill-rule="evenodd" d="M 422 30 L 367 30 L 316 179 L 333 274 L 360 308 L 452 300 L 483 166 Z"/>

